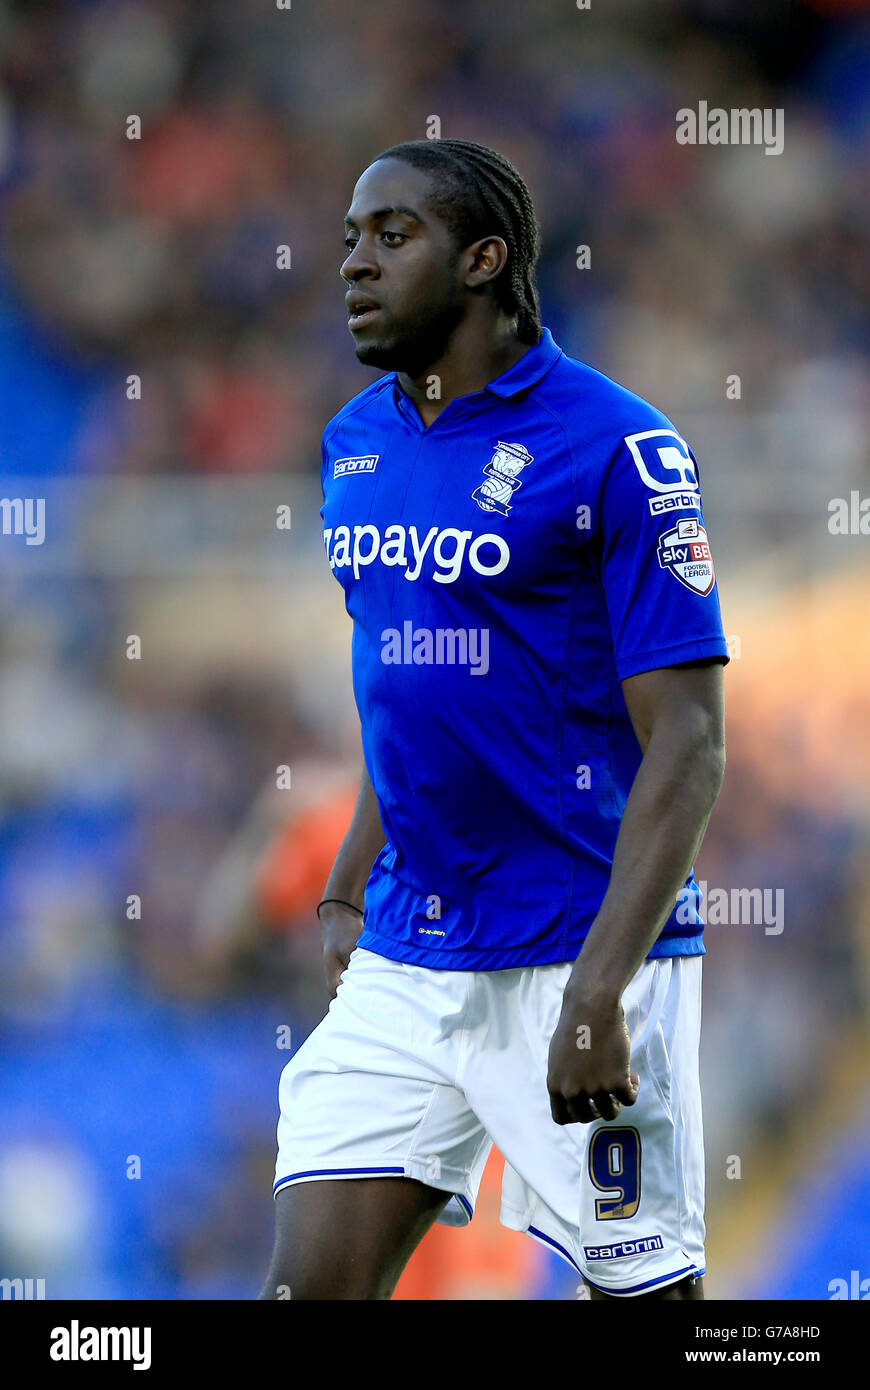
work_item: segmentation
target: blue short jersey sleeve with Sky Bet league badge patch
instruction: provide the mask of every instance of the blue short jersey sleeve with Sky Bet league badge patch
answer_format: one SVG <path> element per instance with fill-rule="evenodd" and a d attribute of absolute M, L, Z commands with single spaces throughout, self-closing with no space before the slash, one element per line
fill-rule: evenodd
<path fill-rule="evenodd" d="M 618 442 L 599 502 L 599 563 L 620 680 L 728 660 L 698 466 L 666 423 Z"/>

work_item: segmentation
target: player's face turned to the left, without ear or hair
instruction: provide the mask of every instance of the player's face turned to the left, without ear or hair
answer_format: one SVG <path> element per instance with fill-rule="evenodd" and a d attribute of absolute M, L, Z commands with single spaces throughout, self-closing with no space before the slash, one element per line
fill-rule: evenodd
<path fill-rule="evenodd" d="M 368 367 L 422 375 L 467 309 L 459 256 L 429 208 L 429 175 L 402 160 L 371 164 L 345 218 L 347 327 Z"/>

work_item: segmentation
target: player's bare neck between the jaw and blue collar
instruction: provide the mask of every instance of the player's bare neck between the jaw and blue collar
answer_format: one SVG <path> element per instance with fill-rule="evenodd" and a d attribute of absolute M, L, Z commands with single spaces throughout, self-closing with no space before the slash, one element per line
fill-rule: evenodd
<path fill-rule="evenodd" d="M 397 373 L 399 385 L 428 427 L 452 400 L 482 391 L 520 361 L 528 348 L 504 318 L 495 322 L 492 318 L 467 318 L 457 327 L 438 361 L 429 363 L 418 377 Z"/>

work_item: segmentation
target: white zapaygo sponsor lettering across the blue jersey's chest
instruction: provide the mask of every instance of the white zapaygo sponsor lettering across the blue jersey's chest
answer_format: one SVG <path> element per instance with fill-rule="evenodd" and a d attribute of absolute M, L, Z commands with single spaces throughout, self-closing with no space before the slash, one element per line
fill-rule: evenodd
<path fill-rule="evenodd" d="M 500 535 L 474 535 L 456 527 L 432 525 L 420 535 L 416 525 L 388 525 L 381 534 L 377 525 L 325 527 L 324 546 L 332 570 L 350 567 L 354 580 L 368 564 L 397 566 L 406 580 L 418 580 L 429 571 L 436 584 L 453 584 L 468 564 L 486 578 L 507 569 L 510 549 Z"/>

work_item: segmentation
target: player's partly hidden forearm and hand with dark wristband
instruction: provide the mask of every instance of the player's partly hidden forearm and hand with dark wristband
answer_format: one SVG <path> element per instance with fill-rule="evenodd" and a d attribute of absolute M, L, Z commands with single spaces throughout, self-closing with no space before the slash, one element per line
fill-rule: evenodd
<path fill-rule="evenodd" d="M 357 937 L 363 930 L 363 905 L 366 884 L 371 866 L 386 842 L 381 813 L 368 773 L 363 767 L 360 792 L 353 810 L 350 828 L 335 856 L 332 872 L 327 878 L 324 898 L 342 898 L 342 902 L 327 902 L 320 909 L 324 969 L 329 997 L 335 998 L 342 970 L 350 959 Z M 345 903 L 356 903 L 353 910 Z"/>

